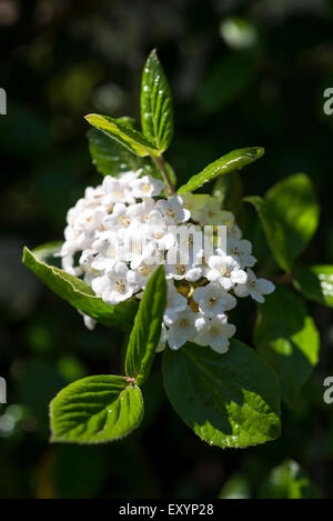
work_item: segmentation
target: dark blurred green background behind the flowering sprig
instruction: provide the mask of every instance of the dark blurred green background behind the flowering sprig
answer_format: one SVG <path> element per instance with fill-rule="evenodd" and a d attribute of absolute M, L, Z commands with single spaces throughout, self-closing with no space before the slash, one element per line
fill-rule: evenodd
<path fill-rule="evenodd" d="M 283 409 L 275 442 L 205 445 L 167 401 L 157 359 L 134 434 L 105 447 L 51 445 L 51 398 L 80 377 L 119 373 L 125 339 L 85 330 L 20 261 L 23 244 L 61 240 L 67 210 L 100 183 L 83 116 L 138 117 L 141 69 L 157 47 L 174 97 L 167 157 L 180 181 L 232 149 L 265 147 L 242 173 L 245 193 L 306 172 L 322 214 L 303 260 L 332 262 L 333 116 L 323 113 L 332 37 L 329 0 L 0 0 L 0 497 L 214 498 L 225 485 L 261 497 L 268 473 L 290 458 L 333 498 L 333 405 L 322 399 L 333 374 L 332 311 L 309 305 L 321 362 L 295 408 Z M 250 303 L 238 319 L 248 342 L 254 317 Z"/>

